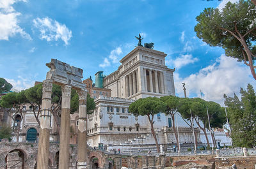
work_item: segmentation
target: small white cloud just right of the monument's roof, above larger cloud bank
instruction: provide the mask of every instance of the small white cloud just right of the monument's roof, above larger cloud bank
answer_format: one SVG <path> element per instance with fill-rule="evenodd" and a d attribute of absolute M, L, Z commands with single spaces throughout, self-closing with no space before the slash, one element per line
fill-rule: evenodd
<path fill-rule="evenodd" d="M 170 64 L 174 66 L 176 69 L 182 68 L 183 66 L 186 66 L 187 64 L 191 64 L 198 61 L 197 57 L 193 57 L 191 54 L 186 55 L 180 55 L 180 57 L 177 57 L 176 59 L 169 61 L 166 61 L 166 64 Z"/>

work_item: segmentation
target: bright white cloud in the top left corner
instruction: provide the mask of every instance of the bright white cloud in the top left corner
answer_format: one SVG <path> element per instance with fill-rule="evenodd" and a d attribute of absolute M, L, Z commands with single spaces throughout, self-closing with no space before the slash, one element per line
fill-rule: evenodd
<path fill-rule="evenodd" d="M 22 0 L 1 0 L 0 1 L 0 40 L 9 40 L 10 37 L 20 34 L 23 38 L 31 40 L 31 37 L 19 26 L 19 15 L 13 4 Z M 23 0 L 24 1 L 24 0 Z M 24 1 L 26 2 L 26 1 Z"/>

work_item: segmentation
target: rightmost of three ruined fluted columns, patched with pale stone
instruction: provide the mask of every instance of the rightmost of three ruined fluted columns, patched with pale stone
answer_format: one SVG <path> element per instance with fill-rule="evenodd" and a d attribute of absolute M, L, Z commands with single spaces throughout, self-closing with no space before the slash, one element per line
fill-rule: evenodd
<path fill-rule="evenodd" d="M 77 169 L 86 168 L 87 140 L 86 140 L 86 90 L 77 91 L 79 97 L 78 136 L 77 136 Z"/>

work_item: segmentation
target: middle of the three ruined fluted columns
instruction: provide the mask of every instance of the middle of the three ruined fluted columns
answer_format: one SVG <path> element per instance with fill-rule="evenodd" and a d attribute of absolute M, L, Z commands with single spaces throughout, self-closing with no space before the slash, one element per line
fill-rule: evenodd
<path fill-rule="evenodd" d="M 70 96 L 71 86 L 61 87 L 61 124 L 60 124 L 60 158 L 61 169 L 69 168 L 69 138 L 70 138 Z"/>

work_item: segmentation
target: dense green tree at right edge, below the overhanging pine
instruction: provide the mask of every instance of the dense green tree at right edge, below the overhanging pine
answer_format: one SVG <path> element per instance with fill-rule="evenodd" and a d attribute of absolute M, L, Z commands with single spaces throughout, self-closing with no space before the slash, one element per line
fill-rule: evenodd
<path fill-rule="evenodd" d="M 224 95 L 227 105 L 228 120 L 231 126 L 231 137 L 236 147 L 256 146 L 256 94 L 252 85 L 248 84 L 247 91 L 241 88 L 241 100 Z"/>

